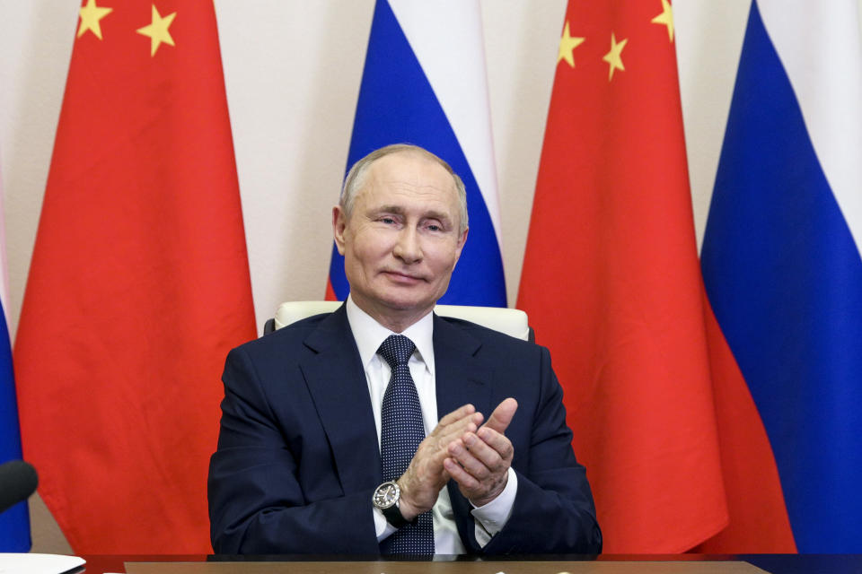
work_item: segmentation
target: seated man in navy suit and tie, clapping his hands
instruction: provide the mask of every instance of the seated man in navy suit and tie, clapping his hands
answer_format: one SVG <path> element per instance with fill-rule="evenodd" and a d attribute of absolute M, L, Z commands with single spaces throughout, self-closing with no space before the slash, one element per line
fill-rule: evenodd
<path fill-rule="evenodd" d="M 432 313 L 467 239 L 461 179 L 388 146 L 332 222 L 345 305 L 228 355 L 216 552 L 601 552 L 547 349 Z"/>

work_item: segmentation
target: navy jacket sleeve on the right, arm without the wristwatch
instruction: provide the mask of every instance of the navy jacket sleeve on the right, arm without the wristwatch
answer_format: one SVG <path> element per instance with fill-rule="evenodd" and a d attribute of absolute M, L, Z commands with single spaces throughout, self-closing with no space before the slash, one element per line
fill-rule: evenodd
<path fill-rule="evenodd" d="M 597 554 L 602 552 L 602 531 L 593 493 L 572 451 L 562 389 L 544 347 L 539 370 L 541 391 L 532 413 L 529 452 L 515 466 L 518 492 L 512 515 L 482 552 Z"/>

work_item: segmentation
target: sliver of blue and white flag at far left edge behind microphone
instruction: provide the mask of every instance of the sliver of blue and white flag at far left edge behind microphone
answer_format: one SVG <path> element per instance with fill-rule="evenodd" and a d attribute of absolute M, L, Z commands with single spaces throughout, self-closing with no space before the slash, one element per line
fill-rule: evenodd
<path fill-rule="evenodd" d="M 9 309 L 9 282 L 6 273 L 3 186 L 0 185 L 0 464 L 22 457 L 12 348 L 9 325 L 6 322 L 6 309 Z M 0 552 L 27 552 L 30 546 L 30 514 L 27 503 L 20 502 L 0 513 Z"/>

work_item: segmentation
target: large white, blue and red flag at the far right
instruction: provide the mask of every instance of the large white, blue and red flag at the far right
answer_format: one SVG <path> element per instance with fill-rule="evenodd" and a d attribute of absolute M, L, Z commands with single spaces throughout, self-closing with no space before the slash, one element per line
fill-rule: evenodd
<path fill-rule="evenodd" d="M 782 550 L 862 552 L 860 245 L 858 4 L 755 0 L 701 252 L 756 407 L 718 408 L 723 464 L 735 469 L 726 486 L 739 497 L 728 546 L 788 522 Z M 774 465 L 745 452 L 758 443 Z M 738 518 L 770 497 L 783 497 L 786 517 L 773 507 L 773 526 L 746 532 Z"/>

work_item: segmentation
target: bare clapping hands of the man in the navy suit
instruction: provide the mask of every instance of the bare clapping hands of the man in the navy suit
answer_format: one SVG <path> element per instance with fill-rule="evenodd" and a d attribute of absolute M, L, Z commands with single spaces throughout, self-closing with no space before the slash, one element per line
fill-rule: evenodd
<path fill-rule="evenodd" d="M 506 488 L 515 454 L 503 433 L 517 408 L 515 399 L 507 398 L 482 424 L 482 413 L 472 404 L 464 404 L 440 419 L 398 479 L 401 514 L 412 520 L 431 509 L 450 478 L 474 506 L 496 499 Z"/>

